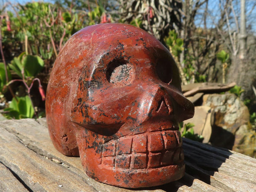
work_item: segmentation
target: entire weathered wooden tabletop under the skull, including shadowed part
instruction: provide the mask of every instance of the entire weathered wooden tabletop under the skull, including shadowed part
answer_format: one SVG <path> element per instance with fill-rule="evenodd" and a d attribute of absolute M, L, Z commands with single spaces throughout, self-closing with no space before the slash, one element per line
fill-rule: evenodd
<path fill-rule="evenodd" d="M 183 138 L 186 174 L 136 191 L 256 191 L 256 160 Z M 128 192 L 88 177 L 79 157 L 59 153 L 45 119 L 0 122 L 0 191 Z"/>

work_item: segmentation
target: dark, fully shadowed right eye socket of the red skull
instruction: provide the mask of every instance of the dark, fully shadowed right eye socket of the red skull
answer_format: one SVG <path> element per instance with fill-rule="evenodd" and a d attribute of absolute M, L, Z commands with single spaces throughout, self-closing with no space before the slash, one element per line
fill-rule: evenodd
<path fill-rule="evenodd" d="M 166 84 L 172 82 L 172 66 L 168 62 L 158 63 L 156 66 L 157 76 Z"/>

